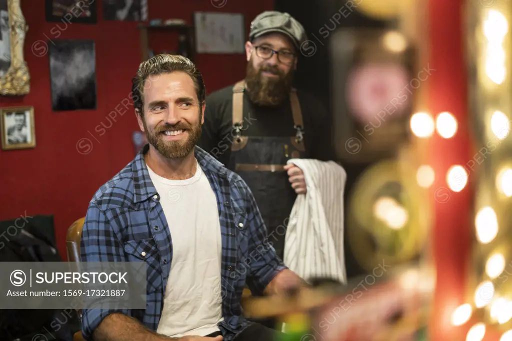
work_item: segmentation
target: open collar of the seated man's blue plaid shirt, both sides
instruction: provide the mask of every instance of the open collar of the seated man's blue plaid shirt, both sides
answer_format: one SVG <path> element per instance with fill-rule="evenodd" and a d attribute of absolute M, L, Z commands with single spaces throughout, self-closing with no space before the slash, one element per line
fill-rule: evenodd
<path fill-rule="evenodd" d="M 154 195 L 158 195 L 158 192 L 153 185 L 153 181 L 151 180 L 150 173 L 147 171 L 147 165 L 144 160 L 144 155 L 149 149 L 150 145 L 146 144 L 137 153 L 132 162 L 135 202 L 141 202 Z M 194 155 L 196 156 L 203 172 L 205 172 L 206 175 L 209 175 L 208 178 L 222 177 L 227 179 L 227 169 L 215 157 L 211 156 L 198 146 L 194 148 Z"/>

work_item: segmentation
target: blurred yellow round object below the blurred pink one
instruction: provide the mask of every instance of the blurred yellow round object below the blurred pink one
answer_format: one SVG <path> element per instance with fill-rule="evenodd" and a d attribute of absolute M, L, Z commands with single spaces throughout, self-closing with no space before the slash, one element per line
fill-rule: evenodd
<path fill-rule="evenodd" d="M 413 170 L 394 161 L 371 167 L 358 179 L 350 197 L 348 242 L 367 271 L 419 256 L 425 242 L 428 206 Z"/>

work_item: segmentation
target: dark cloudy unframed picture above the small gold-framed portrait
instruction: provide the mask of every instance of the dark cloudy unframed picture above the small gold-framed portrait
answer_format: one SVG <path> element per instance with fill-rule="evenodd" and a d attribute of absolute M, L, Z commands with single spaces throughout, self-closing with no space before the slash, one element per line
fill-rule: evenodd
<path fill-rule="evenodd" d="M 53 110 L 95 110 L 94 41 L 53 40 L 48 46 Z"/>

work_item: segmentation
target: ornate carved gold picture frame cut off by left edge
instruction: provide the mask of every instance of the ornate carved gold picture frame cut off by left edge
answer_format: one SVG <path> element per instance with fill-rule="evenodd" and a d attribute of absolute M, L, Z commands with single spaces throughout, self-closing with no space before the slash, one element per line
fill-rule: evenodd
<path fill-rule="evenodd" d="M 0 95 L 20 96 L 30 92 L 30 74 L 23 49 L 28 26 L 22 0 L 0 0 Z"/>

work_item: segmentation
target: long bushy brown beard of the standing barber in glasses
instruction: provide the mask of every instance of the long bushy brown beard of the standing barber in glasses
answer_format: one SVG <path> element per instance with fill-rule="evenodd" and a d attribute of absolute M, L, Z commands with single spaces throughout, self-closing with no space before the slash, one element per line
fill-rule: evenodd
<path fill-rule="evenodd" d="M 272 72 L 279 77 L 263 76 L 264 71 Z M 262 65 L 260 70 L 254 69 L 252 61 L 247 62 L 245 82 L 249 99 L 259 105 L 275 106 L 283 103 L 290 94 L 293 82 L 293 68 L 288 74 L 283 73 L 277 65 Z"/>

